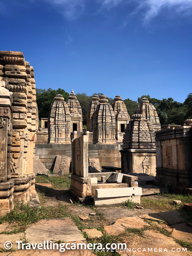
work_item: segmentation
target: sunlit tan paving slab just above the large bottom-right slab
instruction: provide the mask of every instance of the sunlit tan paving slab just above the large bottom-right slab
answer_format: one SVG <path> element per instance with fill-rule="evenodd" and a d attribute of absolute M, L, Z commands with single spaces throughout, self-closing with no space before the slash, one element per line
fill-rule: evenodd
<path fill-rule="evenodd" d="M 139 217 L 127 217 L 118 219 L 116 220 L 115 224 L 118 226 L 123 226 L 125 228 L 146 228 L 150 226 Z"/>

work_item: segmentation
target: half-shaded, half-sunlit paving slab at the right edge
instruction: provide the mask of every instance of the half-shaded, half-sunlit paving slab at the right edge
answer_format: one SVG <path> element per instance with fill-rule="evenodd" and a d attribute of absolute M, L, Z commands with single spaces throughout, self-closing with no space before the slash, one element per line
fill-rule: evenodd
<path fill-rule="evenodd" d="M 172 225 L 172 227 L 174 228 L 171 233 L 173 238 L 187 242 L 192 241 L 192 228 L 187 226 L 186 223 Z"/>

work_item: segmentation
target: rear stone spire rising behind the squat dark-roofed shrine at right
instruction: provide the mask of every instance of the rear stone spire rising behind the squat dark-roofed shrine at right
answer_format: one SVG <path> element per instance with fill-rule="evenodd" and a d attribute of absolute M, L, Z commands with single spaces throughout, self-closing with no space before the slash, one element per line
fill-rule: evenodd
<path fill-rule="evenodd" d="M 151 122 L 155 132 L 161 129 L 158 113 L 153 104 L 149 103 L 148 98 L 142 98 L 140 105 L 135 110 L 135 114 L 143 114 L 144 118 Z"/>

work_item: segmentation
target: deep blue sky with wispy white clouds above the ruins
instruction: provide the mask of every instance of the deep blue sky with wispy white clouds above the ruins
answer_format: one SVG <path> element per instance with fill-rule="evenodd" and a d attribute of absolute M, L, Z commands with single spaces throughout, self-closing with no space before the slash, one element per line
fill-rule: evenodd
<path fill-rule="evenodd" d="M 0 0 L 1 50 L 37 88 L 183 102 L 192 92 L 192 0 Z"/>

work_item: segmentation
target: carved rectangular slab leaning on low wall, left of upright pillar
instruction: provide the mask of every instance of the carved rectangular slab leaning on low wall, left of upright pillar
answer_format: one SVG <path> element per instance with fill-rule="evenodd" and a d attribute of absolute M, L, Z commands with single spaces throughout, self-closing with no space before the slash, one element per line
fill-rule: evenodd
<path fill-rule="evenodd" d="M 71 158 L 65 155 L 58 155 L 55 161 L 53 173 L 64 175 L 69 173 Z"/>

